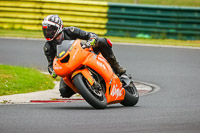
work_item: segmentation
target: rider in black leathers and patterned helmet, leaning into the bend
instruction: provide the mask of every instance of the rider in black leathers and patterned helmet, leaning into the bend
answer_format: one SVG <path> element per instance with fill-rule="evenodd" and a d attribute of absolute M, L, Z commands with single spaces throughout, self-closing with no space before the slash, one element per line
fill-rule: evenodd
<path fill-rule="evenodd" d="M 47 40 L 44 45 L 44 53 L 48 61 L 48 71 L 53 78 L 57 76 L 53 70 L 53 59 L 56 55 L 56 47 L 63 40 L 89 40 L 88 42 L 93 47 L 93 50 L 96 53 L 101 52 L 116 74 L 122 75 L 126 72 L 126 69 L 121 67 L 116 61 L 112 51 L 112 43 L 109 39 L 100 38 L 94 33 L 86 32 L 76 27 L 63 27 L 63 22 L 58 15 L 49 15 L 44 18 L 42 30 Z M 74 94 L 74 91 L 64 83 L 62 78 L 59 90 L 62 97 L 69 98 Z"/>

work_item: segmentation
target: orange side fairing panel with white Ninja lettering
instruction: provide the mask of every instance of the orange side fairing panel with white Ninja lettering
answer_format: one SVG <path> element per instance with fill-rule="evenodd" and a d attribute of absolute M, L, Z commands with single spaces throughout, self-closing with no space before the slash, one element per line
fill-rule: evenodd
<path fill-rule="evenodd" d="M 106 83 L 105 96 L 108 104 L 119 103 L 124 99 L 125 90 L 122 88 L 120 79 L 101 54 L 88 57 L 84 64 L 92 68 L 104 79 Z"/>

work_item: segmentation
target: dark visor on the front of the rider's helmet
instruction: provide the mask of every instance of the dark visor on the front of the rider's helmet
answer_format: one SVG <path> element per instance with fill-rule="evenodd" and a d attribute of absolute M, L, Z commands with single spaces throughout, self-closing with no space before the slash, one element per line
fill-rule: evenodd
<path fill-rule="evenodd" d="M 44 37 L 47 40 L 51 40 L 54 38 L 54 36 L 58 30 L 58 27 L 53 26 L 53 25 L 47 25 L 47 26 L 43 26 L 42 30 L 43 30 Z"/>

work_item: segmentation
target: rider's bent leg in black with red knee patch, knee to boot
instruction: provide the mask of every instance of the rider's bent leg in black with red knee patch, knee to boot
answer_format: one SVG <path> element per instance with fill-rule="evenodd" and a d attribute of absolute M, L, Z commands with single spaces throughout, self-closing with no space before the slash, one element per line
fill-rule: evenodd
<path fill-rule="evenodd" d="M 112 43 L 109 39 L 98 38 L 96 48 L 102 53 L 104 58 L 111 65 L 116 74 L 122 75 L 126 73 L 126 68 L 121 67 L 112 50 Z"/>

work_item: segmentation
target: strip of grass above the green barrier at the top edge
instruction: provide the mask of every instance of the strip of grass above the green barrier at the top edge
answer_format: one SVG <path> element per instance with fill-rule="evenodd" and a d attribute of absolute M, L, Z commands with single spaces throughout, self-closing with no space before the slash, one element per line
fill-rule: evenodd
<path fill-rule="evenodd" d="M 84 0 L 88 1 L 88 0 Z M 95 0 L 106 2 L 135 3 L 136 0 Z M 200 0 L 137 0 L 138 4 L 170 5 L 170 6 L 200 6 Z"/>

